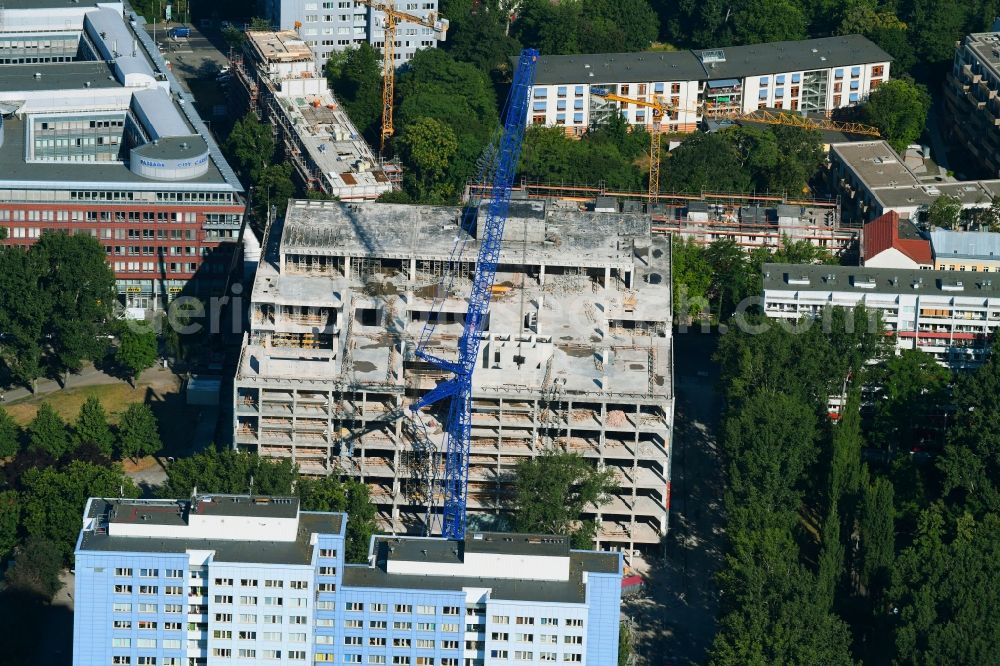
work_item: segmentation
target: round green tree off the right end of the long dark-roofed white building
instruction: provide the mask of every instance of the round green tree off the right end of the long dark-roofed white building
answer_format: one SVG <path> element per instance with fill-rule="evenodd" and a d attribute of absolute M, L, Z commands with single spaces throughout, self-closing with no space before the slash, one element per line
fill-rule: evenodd
<path fill-rule="evenodd" d="M 891 79 L 868 95 L 861 115 L 865 122 L 878 128 L 893 148 L 902 152 L 920 139 L 930 108 L 931 98 L 926 88 L 910 79 Z"/>

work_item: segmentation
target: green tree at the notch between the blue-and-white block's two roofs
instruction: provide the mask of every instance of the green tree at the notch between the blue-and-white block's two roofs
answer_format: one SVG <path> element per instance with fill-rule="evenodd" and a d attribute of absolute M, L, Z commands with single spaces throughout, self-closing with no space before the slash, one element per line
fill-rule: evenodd
<path fill-rule="evenodd" d="M 366 562 L 368 545 L 375 534 L 378 511 L 371 502 L 368 486 L 355 479 L 298 480 L 296 491 L 302 501 L 303 511 L 343 511 L 347 513 L 347 546 L 344 552 L 348 562 Z"/>

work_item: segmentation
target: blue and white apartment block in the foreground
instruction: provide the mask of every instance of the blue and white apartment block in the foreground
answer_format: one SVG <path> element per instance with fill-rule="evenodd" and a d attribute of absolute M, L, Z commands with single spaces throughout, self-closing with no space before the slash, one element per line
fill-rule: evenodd
<path fill-rule="evenodd" d="M 566 537 L 376 536 L 291 497 L 87 502 L 73 664 L 487 666 L 617 661 L 622 559 Z"/>

